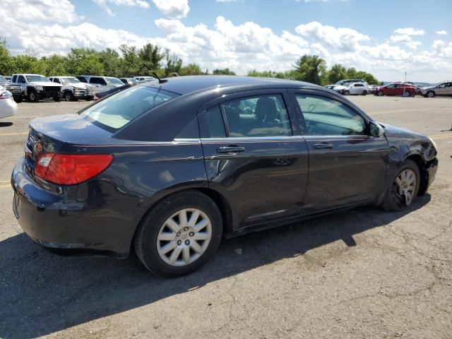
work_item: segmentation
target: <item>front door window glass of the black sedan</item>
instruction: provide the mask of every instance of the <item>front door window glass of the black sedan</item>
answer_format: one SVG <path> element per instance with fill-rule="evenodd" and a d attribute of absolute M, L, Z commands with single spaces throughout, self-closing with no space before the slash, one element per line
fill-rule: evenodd
<path fill-rule="evenodd" d="M 359 136 L 366 123 L 355 111 L 338 100 L 317 95 L 296 95 L 309 136 Z"/>

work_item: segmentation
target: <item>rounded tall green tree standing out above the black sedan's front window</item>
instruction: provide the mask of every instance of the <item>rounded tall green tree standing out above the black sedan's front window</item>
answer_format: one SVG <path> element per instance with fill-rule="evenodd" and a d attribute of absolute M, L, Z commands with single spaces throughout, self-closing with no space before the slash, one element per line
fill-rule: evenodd
<path fill-rule="evenodd" d="M 304 55 L 295 61 L 295 79 L 323 85 L 326 82 L 326 62 L 318 55 Z"/>

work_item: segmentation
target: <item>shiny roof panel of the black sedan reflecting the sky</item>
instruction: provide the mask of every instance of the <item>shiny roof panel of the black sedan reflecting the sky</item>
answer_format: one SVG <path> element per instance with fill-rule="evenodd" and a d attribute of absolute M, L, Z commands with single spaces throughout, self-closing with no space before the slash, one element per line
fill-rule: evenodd
<path fill-rule="evenodd" d="M 185 95 L 197 92 L 199 90 L 207 90 L 209 88 L 232 88 L 239 86 L 246 88 L 300 88 L 315 87 L 322 88 L 319 85 L 305 83 L 303 81 L 292 81 L 276 78 L 253 78 L 250 76 L 176 76 L 166 78 L 164 83 L 149 83 L 149 86 L 159 87 L 169 92 Z"/>

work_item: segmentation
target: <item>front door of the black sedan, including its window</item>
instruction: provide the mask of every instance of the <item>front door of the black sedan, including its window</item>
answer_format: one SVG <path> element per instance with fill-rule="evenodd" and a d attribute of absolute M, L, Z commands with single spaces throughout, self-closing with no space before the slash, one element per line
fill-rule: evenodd
<path fill-rule="evenodd" d="M 367 117 L 345 100 L 304 91 L 292 95 L 309 149 L 304 213 L 374 201 L 386 178 L 386 138 L 369 136 Z"/>

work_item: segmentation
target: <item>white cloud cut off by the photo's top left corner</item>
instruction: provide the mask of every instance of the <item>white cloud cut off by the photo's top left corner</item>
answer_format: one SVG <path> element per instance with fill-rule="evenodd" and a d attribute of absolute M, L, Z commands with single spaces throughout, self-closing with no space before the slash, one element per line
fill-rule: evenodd
<path fill-rule="evenodd" d="M 1 12 L 19 20 L 73 23 L 80 19 L 69 0 L 2 0 L 0 6 Z"/>

